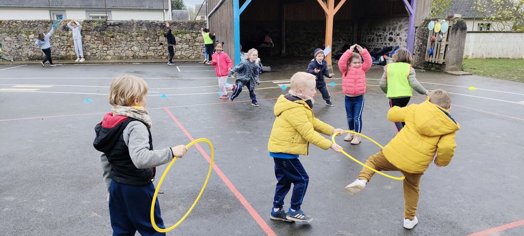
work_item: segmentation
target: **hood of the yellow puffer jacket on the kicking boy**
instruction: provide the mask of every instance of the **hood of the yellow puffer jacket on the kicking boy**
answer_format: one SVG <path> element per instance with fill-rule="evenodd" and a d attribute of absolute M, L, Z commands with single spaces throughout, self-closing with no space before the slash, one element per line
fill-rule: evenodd
<path fill-rule="evenodd" d="M 430 137 L 450 134 L 460 129 L 446 109 L 429 101 L 417 106 L 414 124 L 420 134 Z"/>

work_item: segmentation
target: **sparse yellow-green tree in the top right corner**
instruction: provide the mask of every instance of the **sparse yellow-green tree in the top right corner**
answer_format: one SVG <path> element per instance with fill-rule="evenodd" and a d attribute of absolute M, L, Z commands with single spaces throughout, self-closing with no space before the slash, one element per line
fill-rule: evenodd
<path fill-rule="evenodd" d="M 494 30 L 524 31 L 524 1 L 477 0 L 474 10 Z"/>

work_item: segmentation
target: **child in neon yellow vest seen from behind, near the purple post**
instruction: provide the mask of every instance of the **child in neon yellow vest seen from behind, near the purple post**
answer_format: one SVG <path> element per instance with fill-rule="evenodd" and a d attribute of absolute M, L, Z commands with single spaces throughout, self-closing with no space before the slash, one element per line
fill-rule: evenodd
<path fill-rule="evenodd" d="M 384 67 L 384 74 L 380 79 L 380 89 L 386 93 L 389 99 L 389 107 L 400 106 L 403 108 L 408 105 L 409 99 L 413 95 L 412 89 L 420 94 L 428 95 L 428 90 L 424 89 L 415 77 L 415 70 L 411 67 L 411 54 L 405 48 L 400 48 L 393 55 L 394 63 Z M 403 122 L 395 122 L 397 131 L 404 127 Z"/>

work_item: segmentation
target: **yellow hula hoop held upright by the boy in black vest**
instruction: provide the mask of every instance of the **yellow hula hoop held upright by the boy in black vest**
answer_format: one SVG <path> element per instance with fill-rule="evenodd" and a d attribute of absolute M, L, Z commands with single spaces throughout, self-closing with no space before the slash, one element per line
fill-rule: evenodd
<path fill-rule="evenodd" d="M 209 177 L 211 176 L 211 169 L 213 168 L 213 158 L 214 158 L 213 144 L 211 144 L 211 142 L 209 142 L 209 140 L 207 138 L 199 138 L 198 140 L 194 140 L 193 142 L 189 143 L 187 145 L 187 147 L 189 148 L 189 147 L 193 146 L 195 143 L 199 143 L 199 142 L 205 142 L 211 148 L 211 163 L 209 165 L 208 177 L 205 178 L 204 185 L 202 186 L 202 189 L 200 190 L 200 193 L 198 194 L 198 197 L 196 197 L 196 200 L 193 202 L 193 205 L 189 208 L 188 212 L 185 212 L 185 214 L 182 217 L 182 219 L 180 219 L 176 224 L 174 224 L 173 226 L 171 226 L 169 228 L 166 228 L 166 229 L 158 228 L 157 223 L 155 222 L 155 202 L 157 200 L 158 190 L 160 190 L 160 186 L 162 185 L 162 181 L 166 177 L 166 175 L 167 175 L 169 169 L 171 168 L 171 166 L 173 165 L 174 161 L 177 160 L 177 157 L 174 157 L 173 160 L 171 160 L 171 163 L 169 163 L 169 165 L 167 166 L 166 171 L 164 171 L 164 173 L 162 174 L 162 177 L 160 178 L 160 181 L 158 181 L 157 188 L 155 189 L 155 195 L 153 195 L 153 201 L 151 202 L 151 214 L 150 214 L 151 224 L 153 225 L 153 228 L 155 228 L 155 230 L 158 231 L 158 232 L 165 233 L 165 232 L 169 232 L 169 231 L 173 230 L 174 228 L 177 228 L 177 226 L 180 223 L 182 223 L 182 221 L 184 221 L 185 218 L 188 217 L 189 213 L 193 210 L 193 208 L 196 205 L 196 202 L 198 202 L 198 200 L 202 196 L 202 193 L 204 192 L 205 186 L 208 184 Z"/>

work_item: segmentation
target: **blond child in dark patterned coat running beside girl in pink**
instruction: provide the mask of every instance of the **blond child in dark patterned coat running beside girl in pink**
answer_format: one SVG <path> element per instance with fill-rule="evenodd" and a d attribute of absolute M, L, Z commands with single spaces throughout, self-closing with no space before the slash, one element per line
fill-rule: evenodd
<path fill-rule="evenodd" d="M 234 73 L 237 74 L 237 79 L 235 80 L 236 88 L 230 97 L 230 101 L 233 101 L 242 92 L 242 87 L 246 86 L 249 90 L 251 105 L 258 107 L 257 96 L 255 95 L 255 83 L 260 84 L 258 79 L 259 67 L 256 63 L 257 58 L 258 51 L 254 48 L 249 49 L 247 60 L 243 60 L 229 72 L 229 76 L 232 76 Z"/>

